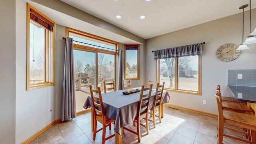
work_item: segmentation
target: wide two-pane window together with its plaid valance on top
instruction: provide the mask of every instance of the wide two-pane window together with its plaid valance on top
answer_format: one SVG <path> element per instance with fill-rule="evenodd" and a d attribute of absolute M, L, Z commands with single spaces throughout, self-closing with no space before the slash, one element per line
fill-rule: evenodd
<path fill-rule="evenodd" d="M 201 95 L 202 43 L 155 50 L 157 77 L 164 88 Z"/>

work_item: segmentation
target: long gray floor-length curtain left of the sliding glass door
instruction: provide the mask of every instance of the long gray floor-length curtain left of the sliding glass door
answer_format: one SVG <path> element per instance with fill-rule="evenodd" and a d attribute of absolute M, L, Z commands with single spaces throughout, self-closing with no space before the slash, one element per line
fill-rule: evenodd
<path fill-rule="evenodd" d="M 75 69 L 73 39 L 66 38 L 63 95 L 62 95 L 62 116 L 61 121 L 69 121 L 76 117 L 76 96 L 75 96 Z"/>

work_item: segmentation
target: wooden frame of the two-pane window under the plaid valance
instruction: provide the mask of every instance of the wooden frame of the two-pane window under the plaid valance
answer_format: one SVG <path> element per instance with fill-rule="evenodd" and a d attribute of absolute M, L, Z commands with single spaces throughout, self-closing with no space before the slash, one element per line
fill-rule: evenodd
<path fill-rule="evenodd" d="M 180 93 L 186 93 L 186 94 L 194 94 L 194 95 L 201 95 L 201 71 L 202 71 L 202 56 L 198 56 L 198 91 L 193 90 L 182 90 L 178 89 L 178 58 L 174 58 L 174 88 L 164 88 L 164 90 L 168 90 L 171 92 L 180 92 Z M 160 82 L 160 59 L 156 60 L 156 77 L 158 78 L 158 81 Z"/>

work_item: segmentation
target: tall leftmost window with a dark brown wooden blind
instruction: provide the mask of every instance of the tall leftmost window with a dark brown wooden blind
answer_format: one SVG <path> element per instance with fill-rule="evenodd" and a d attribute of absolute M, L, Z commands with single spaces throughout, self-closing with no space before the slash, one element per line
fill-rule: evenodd
<path fill-rule="evenodd" d="M 26 90 L 54 86 L 55 23 L 27 4 Z"/>

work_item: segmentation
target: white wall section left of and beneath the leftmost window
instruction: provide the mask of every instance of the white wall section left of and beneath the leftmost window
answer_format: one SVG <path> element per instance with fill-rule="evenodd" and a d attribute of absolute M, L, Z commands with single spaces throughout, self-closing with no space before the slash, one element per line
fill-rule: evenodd
<path fill-rule="evenodd" d="M 16 0 L 16 144 L 56 120 L 55 86 L 26 90 L 26 25 L 26 2 Z"/>

